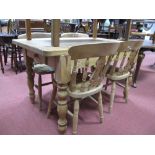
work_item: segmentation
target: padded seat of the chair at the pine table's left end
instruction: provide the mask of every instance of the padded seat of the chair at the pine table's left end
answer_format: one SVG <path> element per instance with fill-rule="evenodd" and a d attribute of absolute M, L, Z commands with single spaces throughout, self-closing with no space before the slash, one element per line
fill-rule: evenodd
<path fill-rule="evenodd" d="M 55 69 L 53 67 L 50 67 L 45 64 L 34 65 L 33 70 L 35 73 L 38 74 L 51 74 L 55 72 Z"/>

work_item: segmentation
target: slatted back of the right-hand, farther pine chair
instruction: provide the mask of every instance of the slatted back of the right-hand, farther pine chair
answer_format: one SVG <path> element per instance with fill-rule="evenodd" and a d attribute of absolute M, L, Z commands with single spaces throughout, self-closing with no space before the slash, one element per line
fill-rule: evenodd
<path fill-rule="evenodd" d="M 109 74 L 117 73 L 117 75 L 121 75 L 130 72 L 136 64 L 138 52 L 142 44 L 142 40 L 121 42 L 117 55 L 113 56 Z"/>

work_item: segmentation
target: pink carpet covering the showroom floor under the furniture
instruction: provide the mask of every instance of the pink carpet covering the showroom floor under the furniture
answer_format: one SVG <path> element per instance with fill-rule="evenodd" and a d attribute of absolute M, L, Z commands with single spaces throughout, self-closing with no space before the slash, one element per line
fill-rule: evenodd
<path fill-rule="evenodd" d="M 104 99 L 104 123 L 100 124 L 96 105 L 89 99 L 81 104 L 78 134 L 81 135 L 139 135 L 155 134 L 155 53 L 146 52 L 138 87 L 130 88 L 129 101 L 122 98 L 122 89 L 117 87 L 113 112 L 109 114 L 109 99 Z M 45 76 L 46 80 L 50 77 Z M 18 73 L 5 66 L 5 74 L 0 71 L 0 134 L 1 135 L 57 135 L 57 113 L 46 118 L 51 86 L 43 88 L 44 110 L 38 104 L 32 105 L 28 97 L 26 73 Z M 37 94 L 37 93 L 36 93 Z M 37 102 L 37 99 L 36 99 Z M 71 119 L 68 118 L 66 134 L 72 133 Z"/>

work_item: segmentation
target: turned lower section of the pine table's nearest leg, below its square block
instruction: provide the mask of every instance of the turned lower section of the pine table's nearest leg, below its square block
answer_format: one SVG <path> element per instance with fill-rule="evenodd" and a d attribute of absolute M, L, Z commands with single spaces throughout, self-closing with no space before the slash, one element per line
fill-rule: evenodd
<path fill-rule="evenodd" d="M 67 106 L 67 84 L 59 84 L 58 83 L 58 130 L 63 133 L 67 129 L 67 119 L 66 114 L 68 110 Z"/>

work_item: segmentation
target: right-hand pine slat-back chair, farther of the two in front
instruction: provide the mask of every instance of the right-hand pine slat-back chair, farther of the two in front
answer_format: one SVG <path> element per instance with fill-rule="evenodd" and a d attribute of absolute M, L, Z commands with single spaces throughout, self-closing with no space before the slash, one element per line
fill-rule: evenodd
<path fill-rule="evenodd" d="M 109 111 L 112 111 L 116 84 L 119 86 L 123 86 L 118 83 L 121 80 L 125 80 L 124 88 L 124 98 L 125 102 L 128 99 L 128 89 L 129 89 L 129 77 L 132 78 L 134 73 L 134 66 L 137 62 L 137 56 L 139 49 L 143 41 L 125 41 L 120 43 L 120 47 L 118 49 L 118 54 L 113 57 L 113 63 L 111 63 L 111 67 L 107 74 L 107 82 L 105 89 L 109 85 L 109 82 L 112 82 L 111 94 L 110 94 L 110 106 Z M 122 53 L 123 52 L 123 53 Z M 123 54 L 123 55 L 122 55 Z"/>

